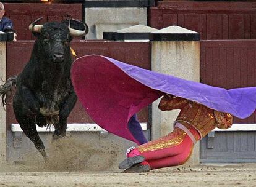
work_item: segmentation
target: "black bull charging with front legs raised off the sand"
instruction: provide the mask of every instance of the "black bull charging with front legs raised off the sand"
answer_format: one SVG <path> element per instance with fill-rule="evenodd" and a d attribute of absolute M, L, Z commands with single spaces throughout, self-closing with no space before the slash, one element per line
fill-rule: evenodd
<path fill-rule="evenodd" d="M 15 117 L 25 135 L 48 161 L 36 124 L 40 127 L 53 124 L 54 140 L 66 135 L 67 117 L 77 101 L 70 81 L 70 41 L 72 36 L 84 36 L 86 31 L 74 30 L 61 22 L 35 25 L 40 19 L 30 25 L 36 36 L 30 60 L 22 73 L 7 79 L 0 87 L 0 95 L 6 105 L 12 88 L 16 86 Z"/>

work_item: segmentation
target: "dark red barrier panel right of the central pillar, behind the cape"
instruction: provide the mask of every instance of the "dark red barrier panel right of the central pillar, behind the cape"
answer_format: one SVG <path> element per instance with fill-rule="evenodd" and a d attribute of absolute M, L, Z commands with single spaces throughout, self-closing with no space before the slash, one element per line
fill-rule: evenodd
<path fill-rule="evenodd" d="M 256 86 L 256 40 L 200 41 L 201 82 L 233 89 Z M 256 123 L 256 115 L 235 119 Z"/>

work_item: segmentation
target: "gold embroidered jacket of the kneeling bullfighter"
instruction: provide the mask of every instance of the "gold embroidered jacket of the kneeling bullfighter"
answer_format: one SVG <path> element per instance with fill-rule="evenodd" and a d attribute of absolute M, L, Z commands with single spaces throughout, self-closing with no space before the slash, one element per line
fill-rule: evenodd
<path fill-rule="evenodd" d="M 215 111 L 181 97 L 169 97 L 166 95 L 161 99 L 158 108 L 162 111 L 181 109 L 174 124 L 180 122 L 181 124 L 192 125 L 198 130 L 201 138 L 205 137 L 215 127 L 228 129 L 233 121 L 231 114 Z"/>

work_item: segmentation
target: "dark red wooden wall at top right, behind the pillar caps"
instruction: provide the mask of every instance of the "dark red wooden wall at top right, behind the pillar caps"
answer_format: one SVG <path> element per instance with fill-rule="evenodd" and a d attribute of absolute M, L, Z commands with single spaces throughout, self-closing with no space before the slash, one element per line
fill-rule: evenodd
<path fill-rule="evenodd" d="M 256 2 L 158 2 L 150 7 L 149 25 L 178 25 L 201 39 L 256 39 Z"/>

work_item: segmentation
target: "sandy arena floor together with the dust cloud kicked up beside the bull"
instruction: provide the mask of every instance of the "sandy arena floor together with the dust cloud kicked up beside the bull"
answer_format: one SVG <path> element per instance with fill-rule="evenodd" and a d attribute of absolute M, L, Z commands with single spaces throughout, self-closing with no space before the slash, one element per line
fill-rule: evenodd
<path fill-rule="evenodd" d="M 50 164 L 37 159 L 0 165 L 0 187 L 20 186 L 256 186 L 256 164 L 179 166 L 148 173 L 122 173 L 118 145 L 95 149 L 71 138 L 53 143 Z M 87 154 L 85 154 L 87 153 Z M 30 153 L 28 153 L 30 154 Z"/>

